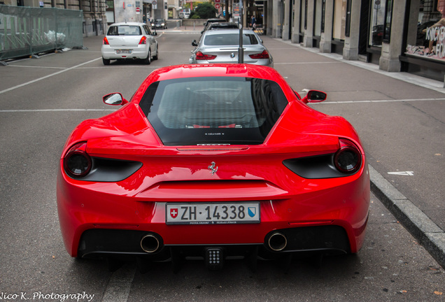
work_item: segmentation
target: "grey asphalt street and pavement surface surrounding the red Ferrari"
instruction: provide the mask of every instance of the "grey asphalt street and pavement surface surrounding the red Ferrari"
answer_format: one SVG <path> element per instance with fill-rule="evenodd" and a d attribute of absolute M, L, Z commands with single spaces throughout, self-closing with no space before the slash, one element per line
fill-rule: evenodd
<path fill-rule="evenodd" d="M 295 259 L 287 267 L 260 261 L 253 273 L 234 260 L 213 272 L 200 261 L 189 261 L 176 274 L 169 263 L 155 264 L 145 274 L 128 263 L 112 273 L 104 261 L 69 257 L 55 203 L 57 165 L 67 136 L 80 121 L 115 110 L 102 103 L 104 94 L 122 92 L 128 99 L 153 69 L 188 63 L 191 41 L 197 38 L 199 31 L 158 31 L 160 59 L 148 66 L 104 66 L 100 36 L 85 38 L 87 50 L 0 66 L 0 298 L 444 301 L 444 269 L 375 196 L 362 250 L 327 257 L 321 267 L 311 259 Z M 444 196 L 444 94 L 263 38 L 275 68 L 292 87 L 329 94 L 325 104 L 314 108 L 350 120 L 374 168 L 382 174 L 414 171 L 414 176 L 386 176 L 413 201 L 425 201 L 425 210 L 440 220 L 443 205 L 434 208 L 427 201 L 442 202 Z M 403 99 L 416 101 L 394 101 Z M 369 100 L 382 102 L 360 102 Z M 67 294 L 76 296 L 63 296 Z"/>

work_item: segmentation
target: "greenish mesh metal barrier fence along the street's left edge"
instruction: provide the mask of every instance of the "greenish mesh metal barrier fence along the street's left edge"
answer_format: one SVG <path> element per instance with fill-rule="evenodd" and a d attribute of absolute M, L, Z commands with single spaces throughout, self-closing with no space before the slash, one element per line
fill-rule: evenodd
<path fill-rule="evenodd" d="M 0 5 L 0 60 L 83 48 L 83 11 Z"/>

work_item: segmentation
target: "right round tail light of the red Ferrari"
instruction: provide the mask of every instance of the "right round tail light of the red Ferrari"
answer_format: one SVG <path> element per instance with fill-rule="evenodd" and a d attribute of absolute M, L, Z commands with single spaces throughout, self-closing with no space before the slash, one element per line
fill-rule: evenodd
<path fill-rule="evenodd" d="M 362 154 L 357 146 L 340 138 L 340 149 L 334 155 L 334 165 L 342 173 L 354 173 L 362 166 Z"/>

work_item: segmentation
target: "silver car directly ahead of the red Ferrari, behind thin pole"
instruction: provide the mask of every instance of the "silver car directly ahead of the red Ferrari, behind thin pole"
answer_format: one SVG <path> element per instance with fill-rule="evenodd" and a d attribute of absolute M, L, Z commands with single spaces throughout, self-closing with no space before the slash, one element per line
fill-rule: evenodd
<path fill-rule="evenodd" d="M 192 41 L 195 50 L 190 64 L 238 63 L 239 29 L 204 31 L 199 40 Z M 274 66 L 274 59 L 251 29 L 243 29 L 243 63 Z"/>

